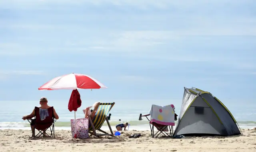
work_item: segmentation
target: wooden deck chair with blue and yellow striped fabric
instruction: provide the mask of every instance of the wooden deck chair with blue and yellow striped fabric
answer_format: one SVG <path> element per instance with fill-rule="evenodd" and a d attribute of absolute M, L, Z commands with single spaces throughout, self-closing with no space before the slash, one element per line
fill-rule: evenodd
<path fill-rule="evenodd" d="M 89 133 L 90 136 L 94 135 L 94 136 L 114 136 L 114 133 L 110 127 L 110 123 L 108 122 L 107 119 L 107 115 L 109 113 L 109 111 L 111 110 L 111 108 L 114 106 L 114 102 L 113 103 L 98 103 L 96 105 L 96 107 L 94 108 L 94 110 L 92 111 L 92 113 L 89 116 Z M 98 109 L 97 109 L 98 107 Z M 94 113 L 95 109 L 97 109 L 95 116 L 92 118 L 92 114 Z M 105 131 L 102 131 L 100 128 L 102 127 L 103 123 L 105 122 L 105 120 L 108 123 L 108 127 L 110 129 L 111 134 L 106 133 Z M 96 133 L 96 131 L 100 131 L 104 134 L 98 134 Z"/>

